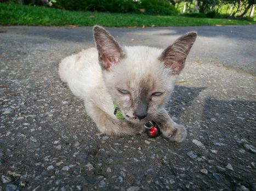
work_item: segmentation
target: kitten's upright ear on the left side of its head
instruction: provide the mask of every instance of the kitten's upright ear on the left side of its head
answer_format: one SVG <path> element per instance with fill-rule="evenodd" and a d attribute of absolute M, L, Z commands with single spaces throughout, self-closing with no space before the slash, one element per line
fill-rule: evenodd
<path fill-rule="evenodd" d="M 99 61 L 103 69 L 109 69 L 124 56 L 121 46 L 103 27 L 93 27 L 93 37 L 99 52 Z"/>

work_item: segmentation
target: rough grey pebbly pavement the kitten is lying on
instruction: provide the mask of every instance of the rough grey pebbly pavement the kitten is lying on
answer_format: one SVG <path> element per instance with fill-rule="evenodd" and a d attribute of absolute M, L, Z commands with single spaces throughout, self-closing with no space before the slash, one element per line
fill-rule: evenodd
<path fill-rule="evenodd" d="M 256 26 L 107 29 L 162 48 L 198 32 L 168 104 L 187 139 L 98 132 L 58 77 L 92 27 L 0 27 L 0 191 L 256 190 Z"/>

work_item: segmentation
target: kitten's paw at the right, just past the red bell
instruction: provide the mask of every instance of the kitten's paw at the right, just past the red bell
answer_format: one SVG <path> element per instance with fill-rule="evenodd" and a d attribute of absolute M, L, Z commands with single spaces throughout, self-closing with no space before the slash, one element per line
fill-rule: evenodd
<path fill-rule="evenodd" d="M 169 127 L 161 131 L 165 138 L 171 141 L 182 142 L 186 139 L 187 130 L 181 124 L 175 124 L 175 127 Z"/>

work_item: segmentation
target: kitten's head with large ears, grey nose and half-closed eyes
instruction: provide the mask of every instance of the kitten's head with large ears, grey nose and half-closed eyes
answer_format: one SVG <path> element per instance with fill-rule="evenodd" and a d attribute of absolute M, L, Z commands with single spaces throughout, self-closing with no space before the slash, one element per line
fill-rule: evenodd
<path fill-rule="evenodd" d="M 183 69 L 197 34 L 186 33 L 161 50 L 121 47 L 100 26 L 94 26 L 93 32 L 107 91 L 123 116 L 133 123 L 156 118 L 173 91 L 175 78 Z"/>

